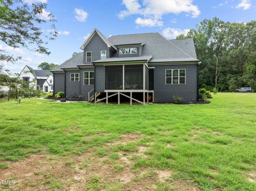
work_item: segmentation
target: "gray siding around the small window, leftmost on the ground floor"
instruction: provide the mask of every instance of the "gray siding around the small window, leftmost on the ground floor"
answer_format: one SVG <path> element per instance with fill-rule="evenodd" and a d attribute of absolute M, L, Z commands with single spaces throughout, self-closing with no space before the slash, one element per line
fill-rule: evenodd
<path fill-rule="evenodd" d="M 70 81 L 70 73 L 80 73 L 79 70 L 66 71 L 66 97 L 80 95 L 80 81 Z"/>

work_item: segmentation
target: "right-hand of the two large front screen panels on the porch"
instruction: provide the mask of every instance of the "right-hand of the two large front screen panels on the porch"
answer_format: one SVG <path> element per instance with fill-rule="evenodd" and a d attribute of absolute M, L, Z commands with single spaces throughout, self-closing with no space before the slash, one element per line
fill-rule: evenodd
<path fill-rule="evenodd" d="M 143 89 L 143 65 L 124 66 L 124 89 Z"/>

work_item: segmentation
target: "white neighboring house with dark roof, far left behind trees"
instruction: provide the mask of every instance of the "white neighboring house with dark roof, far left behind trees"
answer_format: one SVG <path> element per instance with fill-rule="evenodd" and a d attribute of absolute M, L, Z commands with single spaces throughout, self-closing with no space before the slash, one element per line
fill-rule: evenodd
<path fill-rule="evenodd" d="M 53 90 L 51 90 L 50 87 L 53 86 L 53 77 L 50 70 L 34 70 L 33 68 L 26 65 L 20 72 L 20 78 L 22 78 L 25 81 L 29 81 L 30 86 L 33 86 L 34 89 L 42 89 L 43 92 L 53 92 Z M 44 88 L 44 84 L 48 79 L 48 88 L 46 88 L 47 85 L 45 85 Z M 47 91 L 45 91 L 45 89 Z"/>

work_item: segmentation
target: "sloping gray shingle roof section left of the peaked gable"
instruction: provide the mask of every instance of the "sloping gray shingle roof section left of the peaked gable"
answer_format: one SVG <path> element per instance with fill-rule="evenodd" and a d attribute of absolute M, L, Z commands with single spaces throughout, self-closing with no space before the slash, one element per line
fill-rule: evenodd
<path fill-rule="evenodd" d="M 62 64 L 60 64 L 57 68 L 51 70 L 52 72 L 55 71 L 63 71 L 62 69 L 65 68 L 77 68 L 77 65 L 83 64 L 83 53 L 77 53 L 75 56 L 72 56 L 70 59 L 66 60 Z"/>

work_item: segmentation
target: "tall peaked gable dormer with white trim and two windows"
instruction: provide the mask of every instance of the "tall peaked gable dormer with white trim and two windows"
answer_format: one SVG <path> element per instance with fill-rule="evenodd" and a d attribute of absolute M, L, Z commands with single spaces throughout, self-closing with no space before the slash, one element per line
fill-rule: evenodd
<path fill-rule="evenodd" d="M 84 64 L 90 64 L 97 60 L 106 59 L 117 51 L 117 48 L 101 34 L 98 29 L 94 29 L 90 36 L 81 46 L 84 51 Z"/>

